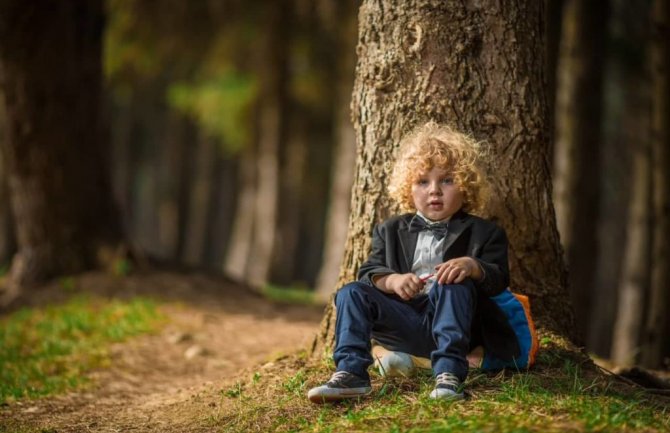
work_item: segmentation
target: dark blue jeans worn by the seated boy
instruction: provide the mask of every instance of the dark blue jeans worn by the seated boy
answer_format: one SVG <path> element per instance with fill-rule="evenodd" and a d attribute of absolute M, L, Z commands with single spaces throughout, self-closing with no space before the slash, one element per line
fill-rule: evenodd
<path fill-rule="evenodd" d="M 389 350 L 430 358 L 434 375 L 450 372 L 465 380 L 475 300 L 470 280 L 436 283 L 410 301 L 360 282 L 347 284 L 335 296 L 337 370 L 368 378 L 375 339 Z"/>

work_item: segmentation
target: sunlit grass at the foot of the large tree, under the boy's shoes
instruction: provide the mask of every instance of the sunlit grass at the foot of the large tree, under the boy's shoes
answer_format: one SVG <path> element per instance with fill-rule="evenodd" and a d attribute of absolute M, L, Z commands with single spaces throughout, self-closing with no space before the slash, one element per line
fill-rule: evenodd
<path fill-rule="evenodd" d="M 666 432 L 670 402 L 630 388 L 560 351 L 522 373 L 472 370 L 462 402 L 428 398 L 430 377 L 384 380 L 360 401 L 314 405 L 309 388 L 332 372 L 327 359 L 293 358 L 258 380 L 222 390 L 203 423 L 220 432 Z M 232 392 L 234 391 L 234 392 Z"/>

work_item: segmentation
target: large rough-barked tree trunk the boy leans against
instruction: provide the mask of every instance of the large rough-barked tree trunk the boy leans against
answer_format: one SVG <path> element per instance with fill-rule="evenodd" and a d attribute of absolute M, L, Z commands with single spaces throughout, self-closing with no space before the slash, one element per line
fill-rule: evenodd
<path fill-rule="evenodd" d="M 340 284 L 355 279 L 373 225 L 396 213 L 387 179 L 403 135 L 429 119 L 485 140 L 493 201 L 510 239 L 512 289 L 540 326 L 574 336 L 551 202 L 542 2 L 364 1 L 359 14 L 352 215 Z M 332 342 L 332 306 L 321 342 Z"/>

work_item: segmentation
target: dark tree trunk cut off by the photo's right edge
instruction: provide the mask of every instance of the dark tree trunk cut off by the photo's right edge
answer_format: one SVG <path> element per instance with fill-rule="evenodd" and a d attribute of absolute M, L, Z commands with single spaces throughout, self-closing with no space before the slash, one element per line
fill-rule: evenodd
<path fill-rule="evenodd" d="M 642 335 L 641 363 L 660 368 L 664 355 L 670 355 L 665 352 L 670 307 L 670 7 L 667 1 L 653 2 L 651 20 L 653 242 L 649 311 Z"/>

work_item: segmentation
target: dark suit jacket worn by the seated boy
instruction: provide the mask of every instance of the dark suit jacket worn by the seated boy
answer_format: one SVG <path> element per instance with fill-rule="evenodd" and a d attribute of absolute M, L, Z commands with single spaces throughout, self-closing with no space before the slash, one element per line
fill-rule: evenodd
<path fill-rule="evenodd" d="M 399 215 L 375 226 L 370 256 L 358 271 L 361 282 L 374 286 L 374 275 L 411 272 L 418 238 L 409 232 L 413 217 Z M 470 256 L 485 274 L 482 281 L 473 280 L 477 288 L 473 336 L 481 338 L 486 353 L 506 361 L 519 356 L 519 344 L 505 314 L 489 297 L 509 285 L 507 246 L 505 231 L 490 221 L 462 211 L 449 220 L 444 261 Z"/>

